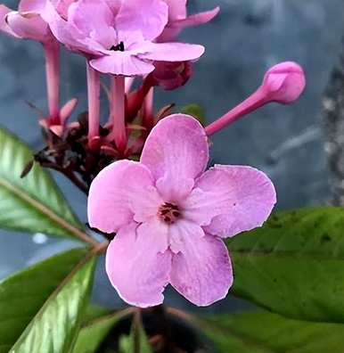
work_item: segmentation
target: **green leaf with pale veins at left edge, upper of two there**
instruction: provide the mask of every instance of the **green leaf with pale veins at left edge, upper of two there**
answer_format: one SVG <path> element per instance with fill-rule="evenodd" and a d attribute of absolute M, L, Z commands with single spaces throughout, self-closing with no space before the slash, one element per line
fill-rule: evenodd
<path fill-rule="evenodd" d="M 72 236 L 81 224 L 53 178 L 37 165 L 20 175 L 33 152 L 0 128 L 0 227 L 23 232 Z"/>

